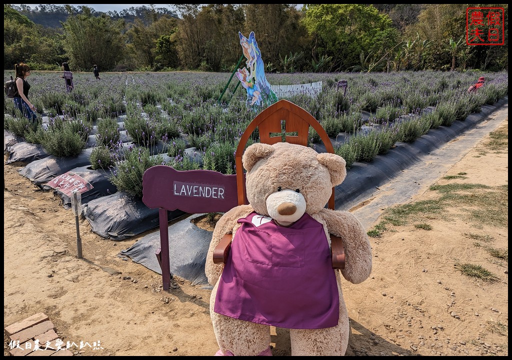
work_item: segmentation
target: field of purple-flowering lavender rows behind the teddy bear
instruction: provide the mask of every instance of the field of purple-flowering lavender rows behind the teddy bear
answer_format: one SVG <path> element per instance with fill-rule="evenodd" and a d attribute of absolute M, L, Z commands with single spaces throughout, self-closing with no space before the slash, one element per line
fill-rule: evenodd
<path fill-rule="evenodd" d="M 5 80 L 10 73 L 4 72 Z M 37 123 L 29 123 L 12 99 L 4 98 L 7 163 L 66 160 L 67 170 L 86 166 L 101 172 L 114 185 L 105 190 L 109 195 L 120 191 L 139 200 L 142 175 L 154 165 L 233 174 L 238 139 L 265 106 L 249 107 L 236 78 L 221 98 L 230 76 L 129 72 L 102 73 L 96 80 L 92 73 L 78 72 L 68 93 L 60 73 L 34 72 L 28 81 Z M 467 93 L 480 76 L 484 86 Z M 356 162 L 371 162 L 398 142 L 413 143 L 508 95 L 507 72 L 297 73 L 268 74 L 267 79 L 272 86 L 321 82 L 314 93 L 282 98 L 322 124 L 349 171 Z M 348 82 L 345 95 L 336 87 L 339 80 Z M 317 151 L 324 149 L 313 130 L 309 140 Z M 251 141 L 259 141 L 257 133 Z M 42 175 L 20 174 L 42 186 L 65 170 L 48 168 Z"/>

